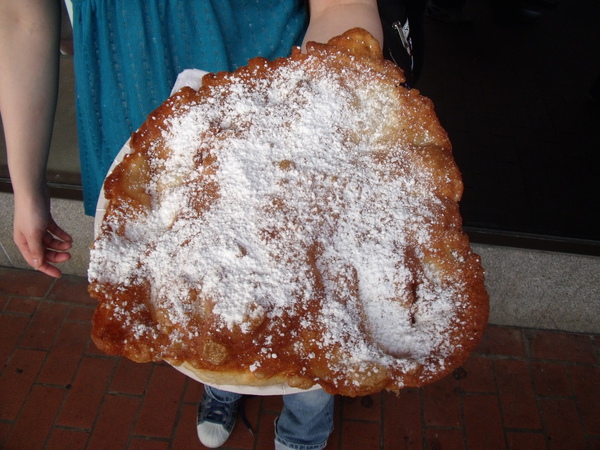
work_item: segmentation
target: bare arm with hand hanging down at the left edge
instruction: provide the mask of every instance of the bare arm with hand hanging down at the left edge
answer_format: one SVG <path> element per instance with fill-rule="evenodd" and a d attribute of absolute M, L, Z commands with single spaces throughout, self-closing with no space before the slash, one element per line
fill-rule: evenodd
<path fill-rule="evenodd" d="M 60 3 L 0 0 L 0 113 L 14 190 L 14 239 L 26 261 L 51 276 L 71 237 L 50 214 L 46 164 L 58 91 Z M 58 239 L 57 239 L 58 238 Z"/>

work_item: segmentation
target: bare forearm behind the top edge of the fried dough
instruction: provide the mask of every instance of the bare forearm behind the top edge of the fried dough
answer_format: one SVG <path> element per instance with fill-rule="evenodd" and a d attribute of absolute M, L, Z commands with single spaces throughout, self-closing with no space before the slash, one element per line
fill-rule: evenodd
<path fill-rule="evenodd" d="M 380 44 L 383 30 L 376 0 L 310 0 L 310 24 L 304 43 L 327 42 L 351 28 L 364 28 Z"/>

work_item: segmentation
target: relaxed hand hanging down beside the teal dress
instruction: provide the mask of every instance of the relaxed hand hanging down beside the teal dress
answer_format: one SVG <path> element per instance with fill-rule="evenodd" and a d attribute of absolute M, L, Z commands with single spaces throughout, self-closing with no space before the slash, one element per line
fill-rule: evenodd
<path fill-rule="evenodd" d="M 14 240 L 27 263 L 51 277 L 62 275 L 53 264 L 71 258 L 73 239 L 52 219 L 46 198 L 32 202 L 15 198 Z"/>

